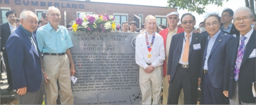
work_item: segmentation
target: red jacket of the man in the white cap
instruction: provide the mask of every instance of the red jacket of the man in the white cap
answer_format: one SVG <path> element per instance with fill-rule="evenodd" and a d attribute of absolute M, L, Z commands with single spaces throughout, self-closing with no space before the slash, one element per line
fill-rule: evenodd
<path fill-rule="evenodd" d="M 163 37 L 163 43 L 164 43 L 164 49 L 165 50 L 166 50 L 166 39 L 167 39 L 168 31 L 169 31 L 169 28 L 166 28 L 166 29 L 159 32 L 159 34 Z M 179 33 L 182 33 L 182 32 L 184 32 L 184 29 L 181 28 L 181 27 L 178 27 L 178 30 L 177 30 L 176 34 L 179 34 Z M 166 61 L 164 60 L 164 62 L 163 62 L 163 76 L 165 76 L 165 75 L 166 75 Z"/>

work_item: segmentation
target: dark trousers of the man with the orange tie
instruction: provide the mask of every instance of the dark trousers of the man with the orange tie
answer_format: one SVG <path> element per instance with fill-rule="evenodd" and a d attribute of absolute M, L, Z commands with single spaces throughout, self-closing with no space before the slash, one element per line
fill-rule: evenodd
<path fill-rule="evenodd" d="M 169 84 L 167 104 L 178 104 L 180 91 L 183 88 L 184 104 L 197 104 L 198 77 L 191 77 L 189 68 L 178 65 L 175 75 Z"/>

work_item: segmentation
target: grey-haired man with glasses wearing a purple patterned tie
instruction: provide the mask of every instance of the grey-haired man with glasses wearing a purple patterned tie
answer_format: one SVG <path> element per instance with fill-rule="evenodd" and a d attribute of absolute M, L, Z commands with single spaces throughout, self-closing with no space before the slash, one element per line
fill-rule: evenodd
<path fill-rule="evenodd" d="M 240 36 L 228 43 L 223 94 L 230 104 L 255 104 L 252 83 L 255 82 L 255 35 L 251 28 L 253 14 L 247 7 L 234 12 L 234 26 Z"/>

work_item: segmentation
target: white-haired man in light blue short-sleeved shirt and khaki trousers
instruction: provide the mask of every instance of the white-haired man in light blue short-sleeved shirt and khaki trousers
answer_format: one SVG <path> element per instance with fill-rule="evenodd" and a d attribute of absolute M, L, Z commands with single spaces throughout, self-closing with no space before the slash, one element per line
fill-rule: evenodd
<path fill-rule="evenodd" d="M 49 7 L 47 12 L 48 24 L 37 29 L 36 40 L 44 58 L 42 70 L 46 78 L 47 103 L 56 104 L 58 97 L 57 80 L 61 104 L 73 104 L 73 94 L 70 77 L 75 75 L 70 47 L 73 46 L 68 30 L 60 26 L 60 11 Z M 71 68 L 70 68 L 71 65 Z"/>

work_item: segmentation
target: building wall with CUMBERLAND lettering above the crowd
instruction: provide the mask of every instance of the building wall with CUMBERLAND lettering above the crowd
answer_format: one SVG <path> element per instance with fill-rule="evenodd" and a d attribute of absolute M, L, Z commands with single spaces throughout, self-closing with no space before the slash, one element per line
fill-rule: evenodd
<path fill-rule="evenodd" d="M 77 18 L 77 11 L 92 12 L 96 14 L 127 14 L 128 22 L 133 20 L 133 14 L 143 14 L 144 18 L 147 15 L 165 16 L 166 14 L 177 11 L 177 8 L 167 7 L 154 7 L 154 6 L 140 6 L 140 5 L 125 5 L 125 4 L 113 4 L 113 3 L 97 3 L 97 2 L 84 2 L 84 1 L 67 1 L 67 0 L 0 0 L 1 9 L 11 8 L 15 10 L 17 17 L 24 9 L 31 10 L 33 12 L 40 10 L 47 10 L 49 6 L 57 7 L 61 12 L 61 25 L 64 25 L 64 11 L 67 13 L 67 24 L 71 20 Z M 167 3 L 166 3 L 167 5 Z M 75 13 L 75 16 L 74 16 Z M 4 16 L 5 17 L 5 16 Z M 131 18 L 130 18 L 131 17 Z"/>

